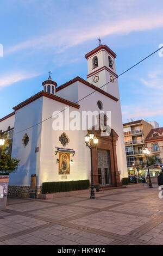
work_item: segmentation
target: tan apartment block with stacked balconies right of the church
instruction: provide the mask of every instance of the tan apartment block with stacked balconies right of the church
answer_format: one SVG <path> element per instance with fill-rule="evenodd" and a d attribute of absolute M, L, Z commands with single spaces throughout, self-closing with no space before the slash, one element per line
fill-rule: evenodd
<path fill-rule="evenodd" d="M 153 126 L 142 119 L 123 124 L 129 175 L 136 174 L 136 170 L 146 163 L 142 150 L 145 147 L 145 138 L 152 129 Z"/>

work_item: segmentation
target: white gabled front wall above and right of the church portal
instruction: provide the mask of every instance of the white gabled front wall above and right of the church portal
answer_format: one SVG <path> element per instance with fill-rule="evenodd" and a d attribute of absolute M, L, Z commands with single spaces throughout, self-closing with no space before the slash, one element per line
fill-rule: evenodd
<path fill-rule="evenodd" d="M 112 84 L 112 83 L 111 83 Z M 72 92 L 72 88 L 70 85 L 66 87 L 66 95 L 67 99 L 69 99 L 70 93 Z M 60 90 L 60 96 L 65 94 L 64 90 Z M 83 99 L 86 95 L 92 93 L 94 90 L 85 84 L 78 82 L 78 99 Z M 119 94 L 119 92 L 117 92 Z M 118 164 L 118 170 L 121 170 L 121 178 L 127 177 L 127 162 L 126 162 L 126 153 L 125 153 L 125 147 L 124 147 L 124 136 L 123 136 L 123 124 L 122 124 L 122 114 L 121 114 L 121 103 L 120 100 L 117 102 L 110 99 L 109 97 L 99 93 L 95 92 L 91 94 L 90 96 L 86 97 L 84 100 L 79 102 L 80 105 L 80 112 L 82 111 L 99 111 L 99 108 L 97 106 L 97 101 L 100 100 L 103 103 L 103 111 L 111 111 L 111 128 L 115 130 L 117 133 L 118 141 L 116 143 L 116 151 L 117 151 L 117 164 Z M 80 136 L 84 136 L 85 133 L 80 133 Z M 89 159 L 90 161 L 90 159 Z"/>

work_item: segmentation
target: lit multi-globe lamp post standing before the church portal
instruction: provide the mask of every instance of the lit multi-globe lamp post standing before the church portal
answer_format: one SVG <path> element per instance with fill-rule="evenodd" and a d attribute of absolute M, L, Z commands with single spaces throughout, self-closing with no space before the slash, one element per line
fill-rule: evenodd
<path fill-rule="evenodd" d="M 95 185 L 93 184 L 92 149 L 95 149 L 97 147 L 98 139 L 96 138 L 96 136 L 92 131 L 90 134 L 87 133 L 87 135 L 85 135 L 85 143 L 86 143 L 86 147 L 89 147 L 89 149 L 91 150 L 91 196 L 90 198 L 95 199 L 96 197 L 95 197 L 95 191 L 94 191 Z"/>

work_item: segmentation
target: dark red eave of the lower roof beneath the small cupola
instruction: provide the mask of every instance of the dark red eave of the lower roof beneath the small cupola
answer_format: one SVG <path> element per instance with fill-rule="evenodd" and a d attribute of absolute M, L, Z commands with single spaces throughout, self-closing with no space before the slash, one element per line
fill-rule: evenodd
<path fill-rule="evenodd" d="M 31 102 L 33 102 L 33 101 L 39 99 L 39 98 L 42 97 L 42 96 L 48 97 L 49 99 L 52 99 L 52 100 L 55 100 L 55 101 L 59 101 L 59 102 L 64 103 L 64 104 L 66 104 L 66 105 L 68 105 L 68 106 L 71 106 L 71 107 L 75 107 L 75 108 L 79 108 L 79 107 L 80 107 L 80 105 L 78 105 L 78 104 L 76 104 L 76 103 L 73 103 L 73 102 L 71 102 L 71 101 L 62 99 L 62 98 L 59 97 L 59 96 L 56 96 L 56 95 L 53 95 L 53 94 L 50 94 L 50 93 L 46 93 L 46 92 L 41 91 L 41 92 L 39 92 L 39 93 L 33 95 L 33 96 L 30 97 L 29 99 L 27 99 L 27 100 L 21 102 L 21 103 L 18 104 L 17 106 L 13 107 L 13 109 L 14 109 L 15 111 L 17 111 L 18 109 L 20 109 L 20 108 L 22 108 L 22 107 L 28 105 L 29 103 L 31 103 Z"/>

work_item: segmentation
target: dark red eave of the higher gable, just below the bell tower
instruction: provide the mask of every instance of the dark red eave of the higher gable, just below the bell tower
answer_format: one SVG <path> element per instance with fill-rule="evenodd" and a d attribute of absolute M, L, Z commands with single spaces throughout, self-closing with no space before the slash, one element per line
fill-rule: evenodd
<path fill-rule="evenodd" d="M 97 90 L 97 92 L 104 94 L 105 96 L 109 97 L 112 100 L 118 101 L 118 99 L 116 97 L 112 96 L 109 93 L 106 93 L 104 90 L 98 88 L 97 86 L 94 86 L 93 84 L 87 82 L 86 80 L 84 80 L 83 78 L 81 78 L 79 76 L 73 78 L 72 80 L 68 81 L 67 83 L 62 84 L 62 86 L 59 86 L 58 88 L 56 88 L 56 92 L 59 92 L 59 90 L 64 89 L 65 87 L 70 86 L 70 84 L 77 82 L 77 81 L 84 83 L 86 86 L 89 86 L 94 90 Z"/>

